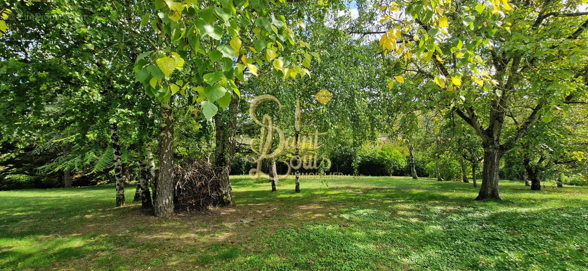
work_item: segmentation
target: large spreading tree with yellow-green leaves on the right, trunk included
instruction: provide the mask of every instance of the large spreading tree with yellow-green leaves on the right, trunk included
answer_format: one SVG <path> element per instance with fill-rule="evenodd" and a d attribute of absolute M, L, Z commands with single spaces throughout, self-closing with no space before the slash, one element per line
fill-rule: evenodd
<path fill-rule="evenodd" d="M 453 110 L 482 141 L 483 182 L 476 199 L 500 199 L 499 165 L 539 118 L 586 96 L 588 13 L 582 1 L 411 1 L 382 6 L 380 45 L 406 63 L 415 82 L 390 86 L 405 111 Z M 395 80 L 404 82 L 398 75 Z M 519 111 L 520 126 L 506 120 Z M 511 131 L 505 134 L 504 131 Z"/>

